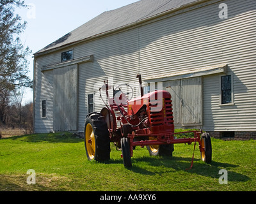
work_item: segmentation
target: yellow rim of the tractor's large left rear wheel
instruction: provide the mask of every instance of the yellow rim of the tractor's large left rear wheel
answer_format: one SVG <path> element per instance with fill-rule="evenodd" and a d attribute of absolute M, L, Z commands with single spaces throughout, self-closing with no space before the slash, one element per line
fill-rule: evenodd
<path fill-rule="evenodd" d="M 93 128 L 91 124 L 86 126 L 85 131 L 85 142 L 86 142 L 86 150 L 90 159 L 94 159 L 95 157 L 95 136 L 93 133 Z"/>

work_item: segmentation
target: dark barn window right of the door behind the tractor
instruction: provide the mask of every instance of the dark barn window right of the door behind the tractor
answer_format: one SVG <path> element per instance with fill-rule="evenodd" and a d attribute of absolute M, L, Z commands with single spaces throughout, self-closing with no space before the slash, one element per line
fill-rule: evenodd
<path fill-rule="evenodd" d="M 221 104 L 232 103 L 231 75 L 221 77 Z"/>

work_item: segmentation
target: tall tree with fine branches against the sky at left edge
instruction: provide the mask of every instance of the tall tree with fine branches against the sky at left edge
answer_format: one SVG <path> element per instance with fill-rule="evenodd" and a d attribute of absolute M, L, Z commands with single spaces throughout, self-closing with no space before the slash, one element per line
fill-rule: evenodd
<path fill-rule="evenodd" d="M 0 123 L 6 123 L 10 95 L 19 87 L 33 87 L 28 77 L 29 48 L 24 48 L 20 33 L 26 28 L 19 15 L 14 14 L 16 7 L 26 7 L 24 1 L 0 0 Z"/>

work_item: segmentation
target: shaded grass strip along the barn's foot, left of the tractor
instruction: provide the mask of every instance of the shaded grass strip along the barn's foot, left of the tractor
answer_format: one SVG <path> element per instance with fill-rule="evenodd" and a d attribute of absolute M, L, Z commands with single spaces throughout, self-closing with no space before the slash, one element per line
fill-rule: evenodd
<path fill-rule="evenodd" d="M 31 143 L 79 143 L 83 139 L 76 138 L 72 133 L 38 133 L 33 135 L 13 136 L 11 138 L 3 138 L 2 140 L 20 140 L 22 142 Z"/>

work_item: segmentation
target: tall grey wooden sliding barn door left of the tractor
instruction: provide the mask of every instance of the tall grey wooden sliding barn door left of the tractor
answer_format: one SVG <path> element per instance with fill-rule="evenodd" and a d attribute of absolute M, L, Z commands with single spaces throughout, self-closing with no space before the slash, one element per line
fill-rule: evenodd
<path fill-rule="evenodd" d="M 77 65 L 54 69 L 54 131 L 77 131 Z"/>

